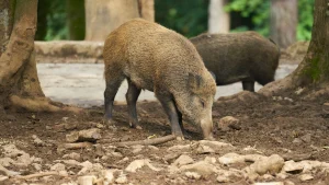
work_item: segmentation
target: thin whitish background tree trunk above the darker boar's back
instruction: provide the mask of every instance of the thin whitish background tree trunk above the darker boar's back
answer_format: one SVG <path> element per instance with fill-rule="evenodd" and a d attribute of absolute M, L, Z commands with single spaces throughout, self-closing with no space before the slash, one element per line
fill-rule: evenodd
<path fill-rule="evenodd" d="M 211 0 L 209 2 L 209 18 L 208 18 L 208 33 L 228 33 L 230 26 L 229 13 L 225 12 L 224 7 L 227 0 Z"/>

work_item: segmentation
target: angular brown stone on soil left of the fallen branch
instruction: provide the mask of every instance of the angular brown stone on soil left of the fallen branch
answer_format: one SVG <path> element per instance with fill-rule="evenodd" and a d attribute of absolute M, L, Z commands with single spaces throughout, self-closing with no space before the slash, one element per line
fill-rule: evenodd
<path fill-rule="evenodd" d="M 71 134 L 66 135 L 66 140 L 68 142 L 76 141 L 97 141 L 101 139 L 101 130 L 98 128 L 91 128 L 87 130 L 72 131 Z"/>

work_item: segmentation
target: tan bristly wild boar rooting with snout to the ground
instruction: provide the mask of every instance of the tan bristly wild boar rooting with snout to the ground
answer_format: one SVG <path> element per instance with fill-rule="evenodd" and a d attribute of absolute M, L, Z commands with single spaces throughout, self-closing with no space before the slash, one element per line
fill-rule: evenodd
<path fill-rule="evenodd" d="M 106 38 L 103 50 L 106 81 L 105 120 L 112 120 L 114 96 L 127 79 L 129 124 L 138 128 L 136 101 L 141 89 L 154 91 L 171 123 L 183 137 L 182 118 L 212 138 L 212 105 L 216 83 L 189 39 L 156 23 L 135 19 Z"/>

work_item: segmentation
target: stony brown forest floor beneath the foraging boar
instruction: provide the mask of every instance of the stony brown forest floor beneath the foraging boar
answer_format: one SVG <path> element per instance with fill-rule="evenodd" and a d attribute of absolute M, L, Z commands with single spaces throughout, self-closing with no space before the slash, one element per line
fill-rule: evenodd
<path fill-rule="evenodd" d="M 239 122 L 217 127 L 213 142 L 202 141 L 200 131 L 185 125 L 192 139 L 115 147 L 170 134 L 158 102 L 139 102 L 137 109 L 141 130 L 129 128 L 123 104 L 114 106 L 116 128 L 103 124 L 102 106 L 82 115 L 9 111 L 0 117 L 0 184 L 329 184 L 328 99 L 304 101 L 287 94 L 251 102 L 219 100 L 213 107 L 214 125 L 225 116 Z M 101 138 L 89 147 L 63 149 L 69 134 L 92 128 Z M 38 173 L 41 177 L 29 176 Z"/>

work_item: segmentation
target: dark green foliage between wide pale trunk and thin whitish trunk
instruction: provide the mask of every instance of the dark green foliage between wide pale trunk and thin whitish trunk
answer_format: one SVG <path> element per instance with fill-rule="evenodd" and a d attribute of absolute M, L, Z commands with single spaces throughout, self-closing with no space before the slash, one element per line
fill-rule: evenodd
<path fill-rule="evenodd" d="M 156 22 L 186 37 L 207 31 L 208 0 L 155 0 Z"/>

